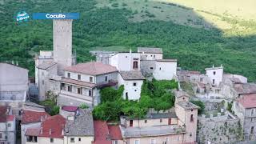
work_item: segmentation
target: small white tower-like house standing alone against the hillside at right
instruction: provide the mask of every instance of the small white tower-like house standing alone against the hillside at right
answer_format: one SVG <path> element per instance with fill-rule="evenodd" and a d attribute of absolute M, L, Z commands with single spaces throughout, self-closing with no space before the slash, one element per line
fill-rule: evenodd
<path fill-rule="evenodd" d="M 223 66 L 206 68 L 206 75 L 210 78 L 212 86 L 219 86 L 223 80 Z"/>

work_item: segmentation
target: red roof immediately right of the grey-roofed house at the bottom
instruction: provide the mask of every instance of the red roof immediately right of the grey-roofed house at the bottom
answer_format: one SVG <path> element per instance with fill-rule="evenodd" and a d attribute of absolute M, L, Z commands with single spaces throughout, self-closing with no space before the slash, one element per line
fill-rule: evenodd
<path fill-rule="evenodd" d="M 94 121 L 94 144 L 111 144 L 106 122 Z"/>

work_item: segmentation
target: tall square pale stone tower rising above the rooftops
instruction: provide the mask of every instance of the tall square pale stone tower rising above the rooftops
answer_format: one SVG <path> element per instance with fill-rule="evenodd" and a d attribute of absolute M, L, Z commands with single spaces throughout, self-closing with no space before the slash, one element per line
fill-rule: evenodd
<path fill-rule="evenodd" d="M 58 63 L 58 75 L 74 63 L 72 55 L 72 19 L 54 19 L 54 62 Z"/>

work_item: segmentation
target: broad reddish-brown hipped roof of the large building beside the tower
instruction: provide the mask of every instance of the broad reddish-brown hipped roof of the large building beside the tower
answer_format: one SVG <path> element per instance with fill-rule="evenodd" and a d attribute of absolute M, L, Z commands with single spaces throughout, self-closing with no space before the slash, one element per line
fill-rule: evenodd
<path fill-rule="evenodd" d="M 118 71 L 116 67 L 103 64 L 102 62 L 79 63 L 75 66 L 66 67 L 65 70 L 74 73 L 90 75 L 107 74 Z"/>

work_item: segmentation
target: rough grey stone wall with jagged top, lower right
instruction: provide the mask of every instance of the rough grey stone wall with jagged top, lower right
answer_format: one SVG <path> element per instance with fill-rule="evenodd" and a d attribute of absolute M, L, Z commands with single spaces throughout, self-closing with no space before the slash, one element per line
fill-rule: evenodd
<path fill-rule="evenodd" d="M 240 141 L 241 138 L 240 121 L 229 112 L 224 115 L 218 113 L 217 117 L 213 117 L 213 114 L 210 114 L 210 118 L 205 118 L 204 115 L 198 117 L 198 143 L 230 144 Z"/>

